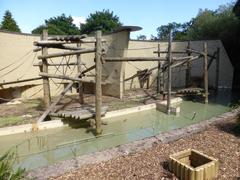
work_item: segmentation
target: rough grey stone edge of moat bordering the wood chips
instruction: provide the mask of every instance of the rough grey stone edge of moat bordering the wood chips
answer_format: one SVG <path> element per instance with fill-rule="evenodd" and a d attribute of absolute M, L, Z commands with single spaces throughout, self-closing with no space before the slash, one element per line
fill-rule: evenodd
<path fill-rule="evenodd" d="M 105 162 L 119 156 L 124 156 L 152 148 L 159 142 L 169 143 L 172 141 L 176 141 L 183 137 L 187 137 L 189 135 L 204 131 L 210 126 L 220 124 L 226 121 L 226 119 L 228 118 L 235 117 L 239 112 L 240 108 L 237 108 L 232 110 L 231 112 L 226 112 L 222 115 L 218 115 L 216 117 L 184 128 L 171 130 L 168 132 L 160 133 L 156 136 L 133 141 L 107 150 L 82 155 L 53 165 L 41 167 L 36 170 L 29 171 L 27 177 L 36 179 L 47 179 L 51 176 L 60 176 L 69 171 L 76 170 L 84 165 Z"/>

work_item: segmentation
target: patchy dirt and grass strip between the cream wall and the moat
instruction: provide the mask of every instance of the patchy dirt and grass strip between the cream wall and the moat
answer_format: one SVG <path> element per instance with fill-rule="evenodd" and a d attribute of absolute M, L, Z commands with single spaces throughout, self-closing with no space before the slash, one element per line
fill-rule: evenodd
<path fill-rule="evenodd" d="M 103 105 L 108 106 L 108 111 L 130 108 L 152 103 L 156 100 L 153 90 L 131 90 L 125 93 L 122 100 L 114 97 L 103 96 Z M 78 95 L 68 95 L 60 101 L 58 107 L 79 106 Z M 53 102 L 56 97 L 53 97 Z M 84 94 L 85 104 L 93 106 L 95 96 Z M 0 127 L 34 123 L 44 112 L 42 99 L 17 100 L 20 104 L 0 104 Z M 56 118 L 55 118 L 56 119 Z"/>

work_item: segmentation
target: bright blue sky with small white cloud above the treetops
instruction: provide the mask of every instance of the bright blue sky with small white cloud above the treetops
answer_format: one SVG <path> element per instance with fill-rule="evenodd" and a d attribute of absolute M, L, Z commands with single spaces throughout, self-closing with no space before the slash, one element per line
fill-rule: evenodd
<path fill-rule="evenodd" d="M 157 34 L 157 27 L 170 22 L 187 22 L 199 9 L 215 10 L 219 5 L 235 0 L 0 0 L 0 20 L 10 10 L 20 29 L 31 33 L 45 19 L 62 13 L 71 15 L 74 23 L 85 22 L 90 13 L 109 9 L 120 18 L 123 25 L 140 26 L 143 29 L 131 33 L 150 38 Z"/>

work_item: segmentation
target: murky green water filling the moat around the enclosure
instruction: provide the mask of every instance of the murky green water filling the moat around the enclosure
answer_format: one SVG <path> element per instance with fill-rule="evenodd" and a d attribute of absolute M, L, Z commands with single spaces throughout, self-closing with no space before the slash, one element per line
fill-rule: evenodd
<path fill-rule="evenodd" d="M 229 111 L 230 101 L 231 94 L 222 92 L 207 105 L 183 101 L 178 116 L 149 110 L 107 119 L 98 138 L 83 127 L 2 136 L 0 154 L 11 148 L 17 153 L 16 167 L 34 169 L 209 119 Z"/>

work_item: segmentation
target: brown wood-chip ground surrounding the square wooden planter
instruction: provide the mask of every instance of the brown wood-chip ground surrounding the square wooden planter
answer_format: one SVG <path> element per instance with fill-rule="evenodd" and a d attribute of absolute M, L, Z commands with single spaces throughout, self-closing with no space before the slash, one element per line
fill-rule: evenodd
<path fill-rule="evenodd" d="M 85 165 L 52 179 L 176 179 L 168 169 L 169 155 L 188 148 L 219 159 L 217 179 L 240 178 L 240 128 L 236 119 L 227 119 L 220 125 L 175 142 L 160 142 L 151 149 Z"/>

